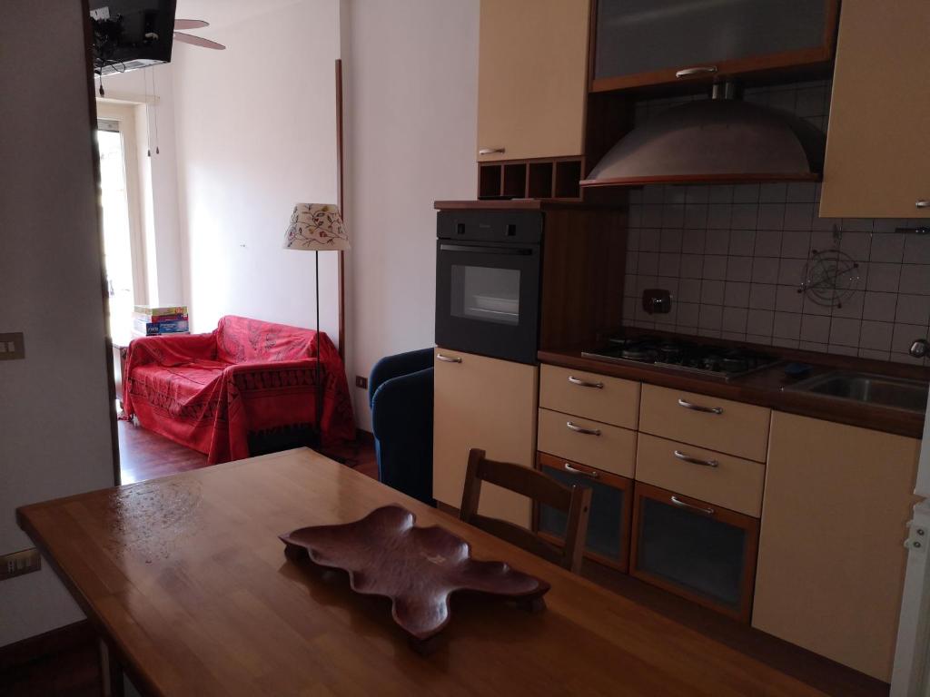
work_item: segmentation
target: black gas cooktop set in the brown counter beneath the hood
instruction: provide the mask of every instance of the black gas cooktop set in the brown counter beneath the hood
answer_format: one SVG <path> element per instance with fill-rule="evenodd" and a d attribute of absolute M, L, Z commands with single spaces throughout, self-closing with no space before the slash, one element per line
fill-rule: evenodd
<path fill-rule="evenodd" d="M 613 338 L 604 349 L 582 351 L 585 358 L 617 363 L 650 363 L 697 375 L 730 380 L 769 365 L 778 359 L 747 349 L 734 349 L 658 336 Z"/>

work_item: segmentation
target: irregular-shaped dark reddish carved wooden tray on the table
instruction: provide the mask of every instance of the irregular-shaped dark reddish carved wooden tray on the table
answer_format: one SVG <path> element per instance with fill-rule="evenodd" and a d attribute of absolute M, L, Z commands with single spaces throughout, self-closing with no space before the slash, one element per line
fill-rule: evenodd
<path fill-rule="evenodd" d="M 300 528 L 281 535 L 288 559 L 310 557 L 349 572 L 352 590 L 391 598 L 394 621 L 418 651 L 449 622 L 449 597 L 458 590 L 515 598 L 527 610 L 545 608 L 549 584 L 502 561 L 476 561 L 467 542 L 444 528 L 414 527 L 401 506 L 376 508 L 344 525 Z"/>

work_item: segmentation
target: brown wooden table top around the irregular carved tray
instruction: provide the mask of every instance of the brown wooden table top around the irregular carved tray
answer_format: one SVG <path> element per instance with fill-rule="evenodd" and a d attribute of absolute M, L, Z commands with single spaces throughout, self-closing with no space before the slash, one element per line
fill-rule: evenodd
<path fill-rule="evenodd" d="M 384 598 L 288 561 L 277 535 L 400 504 L 551 584 L 531 614 L 456 598 L 428 657 Z M 310 450 L 17 512 L 140 688 L 164 695 L 822 694 Z"/>

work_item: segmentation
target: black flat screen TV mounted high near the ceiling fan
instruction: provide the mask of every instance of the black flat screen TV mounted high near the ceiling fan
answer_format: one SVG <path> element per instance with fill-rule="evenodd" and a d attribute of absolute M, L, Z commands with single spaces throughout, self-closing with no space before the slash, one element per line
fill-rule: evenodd
<path fill-rule="evenodd" d="M 126 72 L 171 61 L 176 0 L 90 0 L 94 70 Z"/>

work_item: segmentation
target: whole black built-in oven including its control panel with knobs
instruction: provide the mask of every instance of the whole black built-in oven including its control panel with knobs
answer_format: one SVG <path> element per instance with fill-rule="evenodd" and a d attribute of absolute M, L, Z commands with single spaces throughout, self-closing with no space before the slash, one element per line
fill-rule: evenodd
<path fill-rule="evenodd" d="M 440 211 L 436 344 L 536 362 L 542 213 Z"/>

